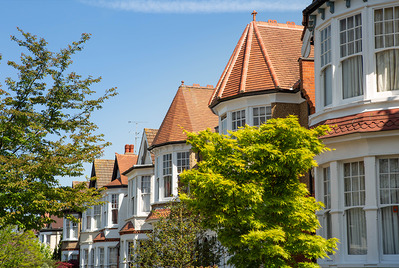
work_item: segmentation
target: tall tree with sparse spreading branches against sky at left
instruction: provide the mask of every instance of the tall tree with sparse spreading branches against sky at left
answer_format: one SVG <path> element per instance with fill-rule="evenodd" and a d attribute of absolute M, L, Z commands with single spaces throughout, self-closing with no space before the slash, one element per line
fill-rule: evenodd
<path fill-rule="evenodd" d="M 40 230 L 51 222 L 45 215 L 84 211 L 99 196 L 84 184 L 60 187 L 58 176 L 82 175 L 83 162 L 108 145 L 90 117 L 115 89 L 92 97 L 90 87 L 101 78 L 68 72 L 89 34 L 51 52 L 43 38 L 18 30 L 21 39 L 11 39 L 27 52 L 19 63 L 8 62 L 17 79 L 6 78 L 0 90 L 0 229 L 13 224 Z"/>

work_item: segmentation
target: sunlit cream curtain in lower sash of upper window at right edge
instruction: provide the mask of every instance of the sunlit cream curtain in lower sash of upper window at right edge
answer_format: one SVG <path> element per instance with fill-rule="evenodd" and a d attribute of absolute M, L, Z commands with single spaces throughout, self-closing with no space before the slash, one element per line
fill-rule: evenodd
<path fill-rule="evenodd" d="M 378 52 L 377 91 L 399 90 L 399 49 Z"/>

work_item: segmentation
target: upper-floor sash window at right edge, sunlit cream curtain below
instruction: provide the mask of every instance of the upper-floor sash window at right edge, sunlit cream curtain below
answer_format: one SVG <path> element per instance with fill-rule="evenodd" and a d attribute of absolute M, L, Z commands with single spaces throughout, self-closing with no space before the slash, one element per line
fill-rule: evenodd
<path fill-rule="evenodd" d="M 377 91 L 399 90 L 399 6 L 374 10 Z"/>

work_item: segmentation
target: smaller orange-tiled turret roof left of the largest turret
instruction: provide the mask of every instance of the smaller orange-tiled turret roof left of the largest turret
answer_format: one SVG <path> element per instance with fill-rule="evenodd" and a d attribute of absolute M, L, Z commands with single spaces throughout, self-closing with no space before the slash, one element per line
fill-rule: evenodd
<path fill-rule="evenodd" d="M 186 86 L 183 83 L 177 90 L 150 149 L 185 141 L 187 137 L 183 129 L 190 132 L 214 129 L 218 125 L 218 117 L 208 108 L 212 92 L 212 86 Z"/>

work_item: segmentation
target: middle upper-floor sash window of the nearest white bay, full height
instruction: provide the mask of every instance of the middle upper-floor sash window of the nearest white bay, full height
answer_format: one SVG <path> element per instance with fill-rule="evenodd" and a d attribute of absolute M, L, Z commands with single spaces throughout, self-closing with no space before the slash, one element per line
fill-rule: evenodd
<path fill-rule="evenodd" d="M 342 64 L 342 97 L 363 95 L 362 17 L 361 14 L 339 21 Z"/>

